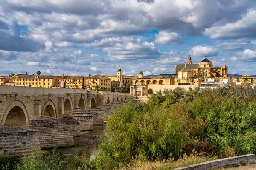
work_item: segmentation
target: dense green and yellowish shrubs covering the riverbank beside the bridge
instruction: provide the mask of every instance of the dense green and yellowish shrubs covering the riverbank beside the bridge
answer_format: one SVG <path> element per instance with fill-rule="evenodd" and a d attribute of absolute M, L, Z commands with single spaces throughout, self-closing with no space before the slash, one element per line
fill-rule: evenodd
<path fill-rule="evenodd" d="M 147 104 L 130 101 L 113 111 L 95 158 L 76 156 L 61 166 L 162 170 L 256 153 L 256 91 L 249 86 L 164 90 Z M 41 164 L 33 160 L 19 164 Z"/>

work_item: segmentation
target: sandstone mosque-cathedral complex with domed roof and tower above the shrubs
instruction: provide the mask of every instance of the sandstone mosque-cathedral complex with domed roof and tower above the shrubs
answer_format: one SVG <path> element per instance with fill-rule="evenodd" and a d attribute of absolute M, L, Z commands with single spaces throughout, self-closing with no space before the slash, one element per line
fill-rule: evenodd
<path fill-rule="evenodd" d="M 134 79 L 133 85 L 141 82 L 143 85 L 149 85 L 149 88 L 152 89 L 154 85 L 190 85 L 189 77 L 191 76 L 194 77 L 192 84 L 195 87 L 200 87 L 203 82 L 207 82 L 209 79 L 215 80 L 215 82 L 227 82 L 227 84 L 253 83 L 256 81 L 256 77 L 250 77 L 247 74 L 243 77 L 230 78 L 227 69 L 226 62 L 221 67 L 213 67 L 207 56 L 201 62 L 193 64 L 189 55 L 187 64 L 176 65 L 175 74 L 160 74 L 160 76 L 144 78 L 142 71 L 140 71 L 138 78 Z"/>

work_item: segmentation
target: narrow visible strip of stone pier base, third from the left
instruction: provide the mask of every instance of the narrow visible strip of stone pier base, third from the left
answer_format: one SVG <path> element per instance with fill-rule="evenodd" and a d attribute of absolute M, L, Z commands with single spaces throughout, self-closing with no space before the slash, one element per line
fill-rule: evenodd
<path fill-rule="evenodd" d="M 69 114 L 63 114 L 61 115 L 61 119 L 65 122 L 65 124 L 70 128 L 70 131 L 73 135 L 73 137 L 80 136 L 80 124 L 76 121 L 73 116 Z"/>

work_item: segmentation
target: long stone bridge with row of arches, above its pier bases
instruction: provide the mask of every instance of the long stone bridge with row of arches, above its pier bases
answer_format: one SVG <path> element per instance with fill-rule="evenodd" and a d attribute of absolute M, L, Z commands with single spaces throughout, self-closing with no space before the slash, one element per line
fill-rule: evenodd
<path fill-rule="evenodd" d="M 87 108 L 106 108 L 108 103 L 135 96 L 105 91 L 62 88 L 0 86 L 0 125 L 27 128 L 36 116 L 61 118 Z"/>

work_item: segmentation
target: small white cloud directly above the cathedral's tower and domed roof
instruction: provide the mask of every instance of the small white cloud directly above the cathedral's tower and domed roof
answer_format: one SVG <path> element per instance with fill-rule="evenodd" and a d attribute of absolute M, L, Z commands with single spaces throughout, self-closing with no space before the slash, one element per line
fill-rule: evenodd
<path fill-rule="evenodd" d="M 207 46 L 196 46 L 189 51 L 191 57 L 204 57 L 204 56 L 216 56 L 218 51 L 213 47 Z"/>

